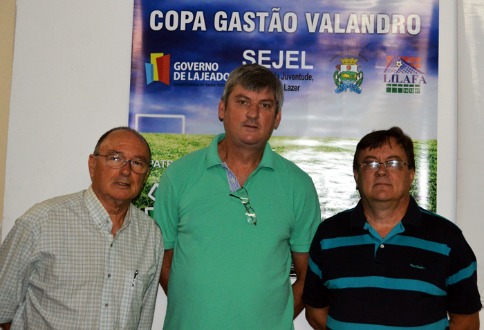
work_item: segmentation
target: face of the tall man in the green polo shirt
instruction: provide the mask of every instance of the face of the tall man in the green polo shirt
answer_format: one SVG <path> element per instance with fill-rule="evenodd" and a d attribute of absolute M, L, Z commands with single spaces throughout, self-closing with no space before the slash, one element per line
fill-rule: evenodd
<path fill-rule="evenodd" d="M 225 138 L 236 145 L 260 148 L 279 126 L 281 111 L 276 115 L 274 93 L 267 89 L 257 93 L 237 85 L 227 104 L 218 104 L 218 118 L 223 119 Z"/>

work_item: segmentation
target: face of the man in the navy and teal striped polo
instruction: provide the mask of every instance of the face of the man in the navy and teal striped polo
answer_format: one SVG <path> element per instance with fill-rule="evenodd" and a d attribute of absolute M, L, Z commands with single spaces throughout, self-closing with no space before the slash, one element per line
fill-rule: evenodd
<path fill-rule="evenodd" d="M 401 145 L 397 145 L 391 138 L 390 143 L 380 148 L 364 149 L 358 156 L 358 164 L 365 161 L 404 161 L 408 163 L 407 154 Z M 406 201 L 409 198 L 409 191 L 415 169 L 409 169 L 403 165 L 400 171 L 388 171 L 385 165 L 380 164 L 376 172 L 363 172 L 361 167 L 354 172 L 355 181 L 360 190 L 362 199 L 370 204 L 375 202 Z"/>

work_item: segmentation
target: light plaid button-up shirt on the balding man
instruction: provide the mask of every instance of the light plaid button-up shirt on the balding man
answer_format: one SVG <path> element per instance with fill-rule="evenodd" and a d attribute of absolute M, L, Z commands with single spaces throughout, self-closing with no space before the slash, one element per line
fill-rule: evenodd
<path fill-rule="evenodd" d="M 151 329 L 163 242 L 131 205 L 115 237 L 91 187 L 39 203 L 0 248 L 0 323 L 15 329 Z"/>

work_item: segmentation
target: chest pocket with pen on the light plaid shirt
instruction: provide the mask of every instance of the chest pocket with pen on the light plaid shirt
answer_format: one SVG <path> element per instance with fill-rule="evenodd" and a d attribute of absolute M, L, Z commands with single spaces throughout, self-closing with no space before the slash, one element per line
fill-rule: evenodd
<path fill-rule="evenodd" d="M 152 274 L 127 271 L 123 277 L 123 294 L 120 305 L 120 329 L 136 329 L 140 321 L 143 297 L 148 289 Z"/>

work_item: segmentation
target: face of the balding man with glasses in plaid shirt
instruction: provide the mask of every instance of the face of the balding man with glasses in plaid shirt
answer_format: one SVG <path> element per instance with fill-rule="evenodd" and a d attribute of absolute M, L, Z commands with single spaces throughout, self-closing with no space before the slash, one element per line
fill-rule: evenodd
<path fill-rule="evenodd" d="M 145 142 L 132 131 L 113 131 L 102 142 L 100 155 L 116 154 L 129 159 L 138 159 L 149 164 L 149 149 Z M 130 203 L 140 193 L 149 174 L 136 174 L 127 162 L 120 169 L 106 165 L 106 157 L 89 156 L 89 174 L 92 187 L 98 199 L 105 207 Z"/>

